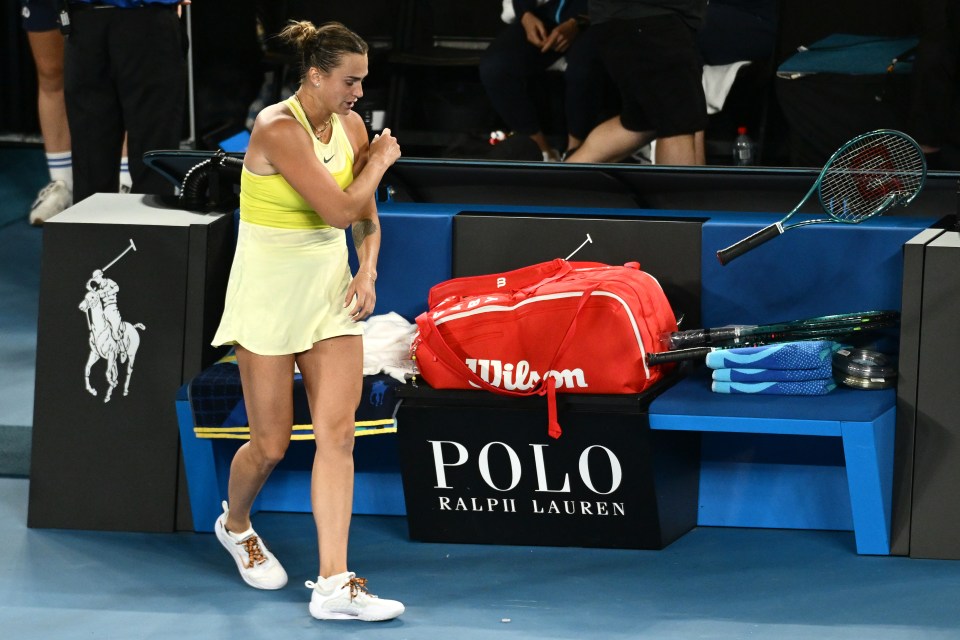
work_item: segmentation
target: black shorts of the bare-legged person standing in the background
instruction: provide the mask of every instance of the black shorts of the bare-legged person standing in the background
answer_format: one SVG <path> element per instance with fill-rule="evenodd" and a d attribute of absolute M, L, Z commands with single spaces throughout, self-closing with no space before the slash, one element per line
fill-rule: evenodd
<path fill-rule="evenodd" d="M 679 16 L 614 20 L 593 28 L 604 31 L 598 41 L 620 89 L 620 121 L 626 129 L 664 138 L 706 128 L 696 32 Z"/>

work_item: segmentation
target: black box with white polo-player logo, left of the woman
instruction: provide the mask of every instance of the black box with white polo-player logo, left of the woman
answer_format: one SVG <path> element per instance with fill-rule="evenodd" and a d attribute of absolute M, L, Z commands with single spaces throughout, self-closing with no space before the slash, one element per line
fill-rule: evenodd
<path fill-rule="evenodd" d="M 131 198 L 130 213 L 143 213 Z M 226 219 L 44 227 L 29 526 L 174 529 L 174 399 L 196 373 L 185 345 L 202 340 L 186 326 L 206 331 L 187 322 L 205 309 L 202 288 L 188 291 L 188 274 L 206 266 L 190 264 L 190 236 L 209 239 L 215 224 L 229 241 Z"/>

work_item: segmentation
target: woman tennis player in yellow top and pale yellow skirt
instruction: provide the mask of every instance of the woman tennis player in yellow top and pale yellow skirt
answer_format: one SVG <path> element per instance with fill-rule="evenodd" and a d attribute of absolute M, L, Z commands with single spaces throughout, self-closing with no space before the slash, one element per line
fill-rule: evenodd
<path fill-rule="evenodd" d="M 214 529 L 243 580 L 279 589 L 287 574 L 250 522 L 254 499 L 283 458 L 293 429 L 293 376 L 303 376 L 316 454 L 311 503 L 319 575 L 307 581 L 319 619 L 389 620 L 395 600 L 367 592 L 349 571 L 355 412 L 363 388 L 357 321 L 376 303 L 380 222 L 374 193 L 400 157 L 389 129 L 368 143 L 354 111 L 367 76 L 367 44 L 340 23 L 293 22 L 301 82 L 263 109 L 240 181 L 237 249 L 215 346 L 235 345 L 250 440 L 230 466 L 228 501 Z M 359 269 L 351 275 L 342 229 L 351 227 Z"/>

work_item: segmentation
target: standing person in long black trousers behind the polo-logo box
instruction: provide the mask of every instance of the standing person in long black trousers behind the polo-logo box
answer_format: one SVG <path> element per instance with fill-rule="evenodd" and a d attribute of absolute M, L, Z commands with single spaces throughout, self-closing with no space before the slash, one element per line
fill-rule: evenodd
<path fill-rule="evenodd" d="M 73 200 L 120 191 L 126 133 L 130 191 L 169 195 L 143 162 L 178 149 L 186 105 L 181 0 L 71 0 L 64 94 L 73 152 Z"/>

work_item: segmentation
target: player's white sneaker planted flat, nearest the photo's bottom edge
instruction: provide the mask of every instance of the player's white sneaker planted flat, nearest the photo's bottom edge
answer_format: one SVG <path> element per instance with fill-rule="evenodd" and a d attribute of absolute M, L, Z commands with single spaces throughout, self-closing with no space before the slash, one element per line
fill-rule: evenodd
<path fill-rule="evenodd" d="M 358 578 L 352 571 L 304 584 L 313 590 L 310 615 L 318 620 L 377 622 L 393 620 L 404 611 L 402 603 L 368 593 L 367 579 Z"/>

